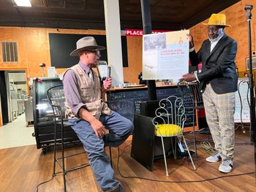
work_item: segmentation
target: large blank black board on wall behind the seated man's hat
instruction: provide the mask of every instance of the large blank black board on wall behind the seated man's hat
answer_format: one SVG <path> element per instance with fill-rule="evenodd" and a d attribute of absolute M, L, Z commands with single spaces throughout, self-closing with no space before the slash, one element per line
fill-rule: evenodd
<path fill-rule="evenodd" d="M 78 64 L 78 57 L 70 56 L 70 53 L 76 49 L 76 42 L 83 37 L 94 37 L 97 45 L 107 48 L 105 35 L 91 34 L 49 34 L 50 42 L 50 64 L 56 68 L 69 68 Z M 128 66 L 127 58 L 127 37 L 121 36 L 121 47 L 123 55 L 123 66 Z M 108 62 L 107 50 L 100 51 L 101 61 Z"/>

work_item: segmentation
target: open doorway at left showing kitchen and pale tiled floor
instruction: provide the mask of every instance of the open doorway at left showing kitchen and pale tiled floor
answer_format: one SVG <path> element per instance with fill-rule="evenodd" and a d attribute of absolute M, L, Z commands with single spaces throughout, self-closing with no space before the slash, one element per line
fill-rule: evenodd
<path fill-rule="evenodd" d="M 29 96 L 26 69 L 0 70 L 1 113 L 0 149 L 34 145 L 34 126 L 26 123 L 25 102 Z"/>

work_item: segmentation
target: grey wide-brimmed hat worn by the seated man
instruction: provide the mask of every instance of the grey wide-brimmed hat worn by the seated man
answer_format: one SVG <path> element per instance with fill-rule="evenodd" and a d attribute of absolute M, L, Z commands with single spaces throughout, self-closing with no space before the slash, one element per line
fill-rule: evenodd
<path fill-rule="evenodd" d="M 83 37 L 77 41 L 77 48 L 70 55 L 77 56 L 82 50 L 105 50 L 105 47 L 97 45 L 94 37 Z"/>

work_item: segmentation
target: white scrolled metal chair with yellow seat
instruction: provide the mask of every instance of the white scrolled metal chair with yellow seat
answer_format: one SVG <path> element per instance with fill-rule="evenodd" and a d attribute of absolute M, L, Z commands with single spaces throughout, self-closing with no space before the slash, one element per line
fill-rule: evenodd
<path fill-rule="evenodd" d="M 165 156 L 164 137 L 178 138 L 179 146 L 183 141 L 187 149 L 187 153 L 189 154 L 189 158 L 192 161 L 192 165 L 194 169 L 196 169 L 183 134 L 184 122 L 187 119 L 183 100 L 177 96 L 169 96 L 166 99 L 161 99 L 159 101 L 159 107 L 155 111 L 155 115 L 156 116 L 152 119 L 152 123 L 154 124 L 155 135 L 157 137 L 161 137 L 162 150 L 165 158 L 166 176 L 169 176 L 169 174 Z M 179 139 L 179 137 L 181 137 L 181 139 Z M 176 157 L 175 150 L 176 147 L 173 147 L 173 155 Z"/>

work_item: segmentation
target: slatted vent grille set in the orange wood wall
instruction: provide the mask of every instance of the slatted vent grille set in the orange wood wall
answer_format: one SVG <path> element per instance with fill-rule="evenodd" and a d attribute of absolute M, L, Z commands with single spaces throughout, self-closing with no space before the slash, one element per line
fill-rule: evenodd
<path fill-rule="evenodd" d="M 18 62 L 17 42 L 1 42 L 3 63 Z"/>

